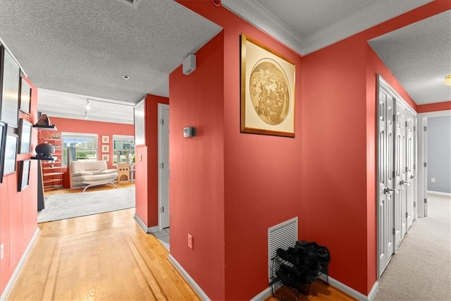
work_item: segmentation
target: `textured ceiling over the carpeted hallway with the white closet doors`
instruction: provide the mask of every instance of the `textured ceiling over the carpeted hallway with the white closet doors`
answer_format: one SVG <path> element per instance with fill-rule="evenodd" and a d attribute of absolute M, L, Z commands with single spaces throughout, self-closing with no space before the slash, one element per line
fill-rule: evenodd
<path fill-rule="evenodd" d="M 416 104 L 451 100 L 451 11 L 369 41 Z"/>

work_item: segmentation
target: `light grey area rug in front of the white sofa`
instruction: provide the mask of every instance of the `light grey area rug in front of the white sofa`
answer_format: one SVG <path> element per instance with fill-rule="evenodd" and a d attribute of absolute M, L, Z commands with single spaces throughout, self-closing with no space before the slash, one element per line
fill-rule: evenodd
<path fill-rule="evenodd" d="M 37 222 L 58 221 L 135 207 L 135 187 L 49 195 Z"/>

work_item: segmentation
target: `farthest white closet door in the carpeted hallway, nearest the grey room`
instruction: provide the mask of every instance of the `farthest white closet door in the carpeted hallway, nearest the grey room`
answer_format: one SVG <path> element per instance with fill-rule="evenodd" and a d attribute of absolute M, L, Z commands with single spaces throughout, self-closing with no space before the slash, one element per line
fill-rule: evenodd
<path fill-rule="evenodd" d="M 406 224 L 407 229 L 414 222 L 414 195 L 415 195 L 415 157 L 414 157 L 414 114 L 406 113 Z"/>

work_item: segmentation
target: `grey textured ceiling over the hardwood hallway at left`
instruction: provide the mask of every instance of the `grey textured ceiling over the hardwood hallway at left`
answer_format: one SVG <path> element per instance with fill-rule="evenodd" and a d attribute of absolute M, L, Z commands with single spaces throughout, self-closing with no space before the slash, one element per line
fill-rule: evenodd
<path fill-rule="evenodd" d="M 0 37 L 39 88 L 137 102 L 221 30 L 173 0 L 1 0 Z M 129 75 L 123 80 L 122 75 Z"/>

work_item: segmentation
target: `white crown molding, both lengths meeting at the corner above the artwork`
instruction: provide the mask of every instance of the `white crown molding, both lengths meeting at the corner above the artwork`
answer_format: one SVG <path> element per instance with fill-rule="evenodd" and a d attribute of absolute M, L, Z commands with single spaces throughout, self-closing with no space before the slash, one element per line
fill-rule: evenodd
<path fill-rule="evenodd" d="M 268 33 L 275 39 L 290 47 L 298 54 L 306 55 L 327 47 L 342 39 L 355 35 L 386 20 L 412 11 L 432 0 L 385 0 L 371 6 L 349 18 L 340 20 L 325 29 L 303 39 L 295 30 L 274 16 L 256 0 L 223 0 L 222 4 L 233 13 L 247 20 L 255 27 Z"/>

